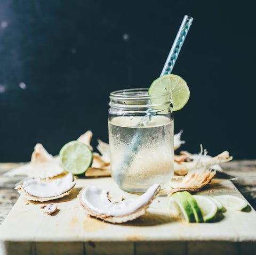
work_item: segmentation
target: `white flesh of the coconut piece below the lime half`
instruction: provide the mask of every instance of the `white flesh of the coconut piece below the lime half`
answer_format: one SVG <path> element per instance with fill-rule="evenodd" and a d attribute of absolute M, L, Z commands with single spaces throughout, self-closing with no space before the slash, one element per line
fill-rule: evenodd
<path fill-rule="evenodd" d="M 65 177 L 55 179 L 52 182 L 42 182 L 39 178 L 26 180 L 21 187 L 23 191 L 31 196 L 51 198 L 71 190 L 74 186 L 73 175 L 69 173 Z"/>

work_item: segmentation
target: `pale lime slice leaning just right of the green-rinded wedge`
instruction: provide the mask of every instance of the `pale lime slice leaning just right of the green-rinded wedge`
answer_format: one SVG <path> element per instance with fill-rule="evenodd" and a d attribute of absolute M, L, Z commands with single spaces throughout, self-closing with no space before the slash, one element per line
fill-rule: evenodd
<path fill-rule="evenodd" d="M 204 222 L 210 221 L 214 218 L 218 211 L 217 205 L 207 196 L 193 195 L 199 208 L 201 209 Z"/>

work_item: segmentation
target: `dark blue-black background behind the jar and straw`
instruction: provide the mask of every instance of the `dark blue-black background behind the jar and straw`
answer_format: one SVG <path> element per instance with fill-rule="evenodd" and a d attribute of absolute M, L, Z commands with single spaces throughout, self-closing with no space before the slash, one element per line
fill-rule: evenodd
<path fill-rule="evenodd" d="M 148 87 L 183 15 L 194 18 L 173 73 L 182 149 L 255 158 L 253 1 L 0 1 L 0 162 L 51 154 L 87 129 L 108 140 L 109 93 Z"/>

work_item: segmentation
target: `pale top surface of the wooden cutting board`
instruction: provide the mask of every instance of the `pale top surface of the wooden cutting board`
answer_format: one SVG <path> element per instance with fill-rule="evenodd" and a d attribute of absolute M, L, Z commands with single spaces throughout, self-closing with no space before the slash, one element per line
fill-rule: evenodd
<path fill-rule="evenodd" d="M 166 198 L 153 201 L 147 215 L 131 223 L 113 225 L 87 217 L 76 198 L 79 190 L 89 184 L 110 188 L 111 196 L 131 198 L 136 195 L 119 190 L 110 178 L 78 179 L 73 193 L 57 203 L 60 212 L 48 216 L 40 209 L 42 203 L 30 203 L 21 197 L 2 225 L 5 240 L 10 241 L 256 241 L 256 212 L 239 212 L 227 208 L 220 222 L 211 224 L 188 224 L 177 220 L 167 209 Z M 242 195 L 229 180 L 216 180 L 210 190 L 200 192 L 205 195 Z M 28 227 L 28 224 L 33 228 Z M 22 234 L 15 229 L 25 229 Z"/>

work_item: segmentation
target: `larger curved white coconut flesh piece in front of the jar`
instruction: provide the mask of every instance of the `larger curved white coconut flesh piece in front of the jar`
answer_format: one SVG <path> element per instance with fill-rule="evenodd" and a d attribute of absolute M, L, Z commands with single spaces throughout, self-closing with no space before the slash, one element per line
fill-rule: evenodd
<path fill-rule="evenodd" d="M 126 199 L 120 203 L 111 203 L 108 199 L 108 191 L 96 186 L 87 186 L 81 193 L 81 201 L 90 210 L 97 214 L 109 216 L 125 216 L 148 204 L 159 190 L 159 185 L 154 184 L 136 199 Z"/>

